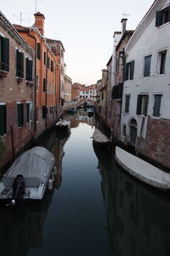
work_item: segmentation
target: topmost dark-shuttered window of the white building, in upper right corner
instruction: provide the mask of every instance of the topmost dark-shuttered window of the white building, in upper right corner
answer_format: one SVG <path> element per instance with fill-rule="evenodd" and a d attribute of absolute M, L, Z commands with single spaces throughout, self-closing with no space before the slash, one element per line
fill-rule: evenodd
<path fill-rule="evenodd" d="M 156 26 L 161 26 L 170 21 L 170 5 L 156 12 Z"/>

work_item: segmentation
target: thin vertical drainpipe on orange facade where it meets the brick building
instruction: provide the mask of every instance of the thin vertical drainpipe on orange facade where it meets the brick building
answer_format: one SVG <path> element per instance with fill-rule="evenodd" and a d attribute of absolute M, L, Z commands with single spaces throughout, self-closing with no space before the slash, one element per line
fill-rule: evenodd
<path fill-rule="evenodd" d="M 35 40 L 35 65 L 34 65 L 34 81 L 35 81 L 35 85 L 34 85 L 34 131 L 37 131 L 37 38 L 35 38 L 34 36 L 32 36 L 30 34 L 30 31 L 27 32 L 28 36 L 33 38 Z"/>

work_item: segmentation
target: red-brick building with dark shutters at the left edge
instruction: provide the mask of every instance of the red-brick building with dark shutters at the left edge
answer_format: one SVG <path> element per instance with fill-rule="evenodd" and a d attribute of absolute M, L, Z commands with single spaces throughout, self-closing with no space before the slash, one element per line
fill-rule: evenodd
<path fill-rule="evenodd" d="M 34 50 L 0 12 L 0 167 L 19 153 L 34 132 Z"/>

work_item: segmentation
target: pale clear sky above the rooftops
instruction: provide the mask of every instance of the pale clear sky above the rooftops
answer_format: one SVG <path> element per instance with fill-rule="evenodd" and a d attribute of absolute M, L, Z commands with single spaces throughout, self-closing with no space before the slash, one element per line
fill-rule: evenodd
<path fill-rule="evenodd" d="M 12 24 L 32 26 L 34 13 L 45 16 L 45 37 L 65 47 L 65 73 L 72 82 L 95 84 L 101 79 L 113 50 L 113 34 L 133 30 L 154 0 L 0 0 L 3 15 Z"/>

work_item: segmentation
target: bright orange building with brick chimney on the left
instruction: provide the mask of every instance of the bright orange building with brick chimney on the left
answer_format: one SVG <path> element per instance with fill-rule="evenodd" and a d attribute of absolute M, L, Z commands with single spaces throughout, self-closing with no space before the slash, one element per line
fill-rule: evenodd
<path fill-rule="evenodd" d="M 45 131 L 59 117 L 58 62 L 44 38 L 45 17 L 37 12 L 31 27 L 14 25 L 20 36 L 35 51 L 35 136 Z"/>

